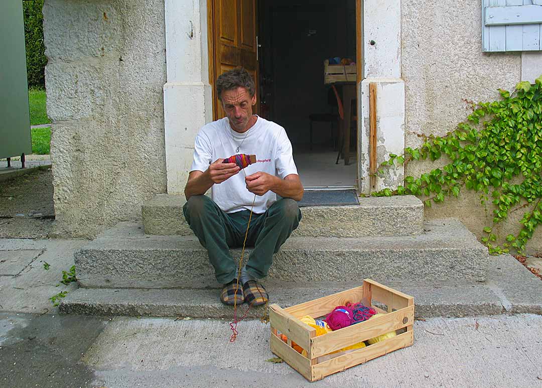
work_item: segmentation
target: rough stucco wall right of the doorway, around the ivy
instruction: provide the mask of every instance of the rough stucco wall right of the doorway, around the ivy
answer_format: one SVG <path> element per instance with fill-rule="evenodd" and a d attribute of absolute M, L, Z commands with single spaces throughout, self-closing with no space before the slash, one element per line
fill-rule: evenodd
<path fill-rule="evenodd" d="M 499 98 L 498 88 L 513 90 L 521 78 L 521 54 L 482 53 L 480 1 L 409 0 L 401 7 L 405 147 L 418 147 L 423 143 L 419 134 L 444 135 L 466 119 L 471 111 L 463 99 L 491 101 Z M 405 176 L 419 176 L 443 163 L 409 163 Z M 519 230 L 523 212 L 500 227 L 502 236 Z M 425 209 L 425 218 L 442 217 L 459 218 L 478 238 L 493 219 L 479 195 L 467 191 Z M 542 251 L 542 232 L 528 248 Z"/>

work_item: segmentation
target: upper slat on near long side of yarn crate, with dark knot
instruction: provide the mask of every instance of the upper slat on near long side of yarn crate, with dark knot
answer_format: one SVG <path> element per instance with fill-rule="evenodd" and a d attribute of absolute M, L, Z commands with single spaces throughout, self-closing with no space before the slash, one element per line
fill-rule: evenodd
<path fill-rule="evenodd" d="M 360 324 L 320 335 L 312 339 L 310 358 L 329 354 L 347 346 L 357 344 L 385 333 L 396 331 L 414 322 L 414 306 L 377 316 Z"/>

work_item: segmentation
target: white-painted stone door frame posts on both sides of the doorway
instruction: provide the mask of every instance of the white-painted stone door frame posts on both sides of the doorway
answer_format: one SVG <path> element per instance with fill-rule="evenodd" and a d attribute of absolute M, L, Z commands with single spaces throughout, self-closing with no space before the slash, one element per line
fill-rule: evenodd
<path fill-rule="evenodd" d="M 212 121 L 209 84 L 208 0 L 164 0 L 166 71 L 164 138 L 167 193 L 182 194 L 199 128 Z M 401 0 L 356 0 L 358 17 L 358 190 L 369 193 L 369 84 L 377 85 L 379 163 L 404 152 L 404 81 L 401 78 Z M 359 43 L 362 43 L 359 45 Z M 377 179 L 377 189 L 402 184 L 403 167 Z"/>

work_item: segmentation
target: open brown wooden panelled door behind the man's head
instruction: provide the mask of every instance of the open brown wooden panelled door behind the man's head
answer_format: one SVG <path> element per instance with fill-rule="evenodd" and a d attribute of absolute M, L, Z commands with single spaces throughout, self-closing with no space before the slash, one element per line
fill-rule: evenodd
<path fill-rule="evenodd" d="M 235 67 L 244 67 L 254 77 L 258 90 L 258 61 L 256 47 L 256 0 L 209 0 L 212 3 L 212 80 L 213 117 L 225 117 L 214 88 L 219 75 Z M 209 30 L 211 31 L 211 29 Z M 210 34 L 211 35 L 211 34 Z M 210 53 L 211 54 L 211 53 Z M 256 103 L 254 109 L 257 112 Z"/>

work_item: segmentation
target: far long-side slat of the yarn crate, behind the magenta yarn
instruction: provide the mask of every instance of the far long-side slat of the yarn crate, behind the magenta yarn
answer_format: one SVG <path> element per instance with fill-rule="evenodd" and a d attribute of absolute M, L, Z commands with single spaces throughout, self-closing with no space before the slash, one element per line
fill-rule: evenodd
<path fill-rule="evenodd" d="M 285 308 L 284 311 L 295 318 L 310 315 L 313 318 L 329 314 L 335 307 L 344 306 L 347 302 L 357 303 L 363 299 L 363 286 L 351 288 L 336 294 L 314 299 L 300 305 Z"/>

